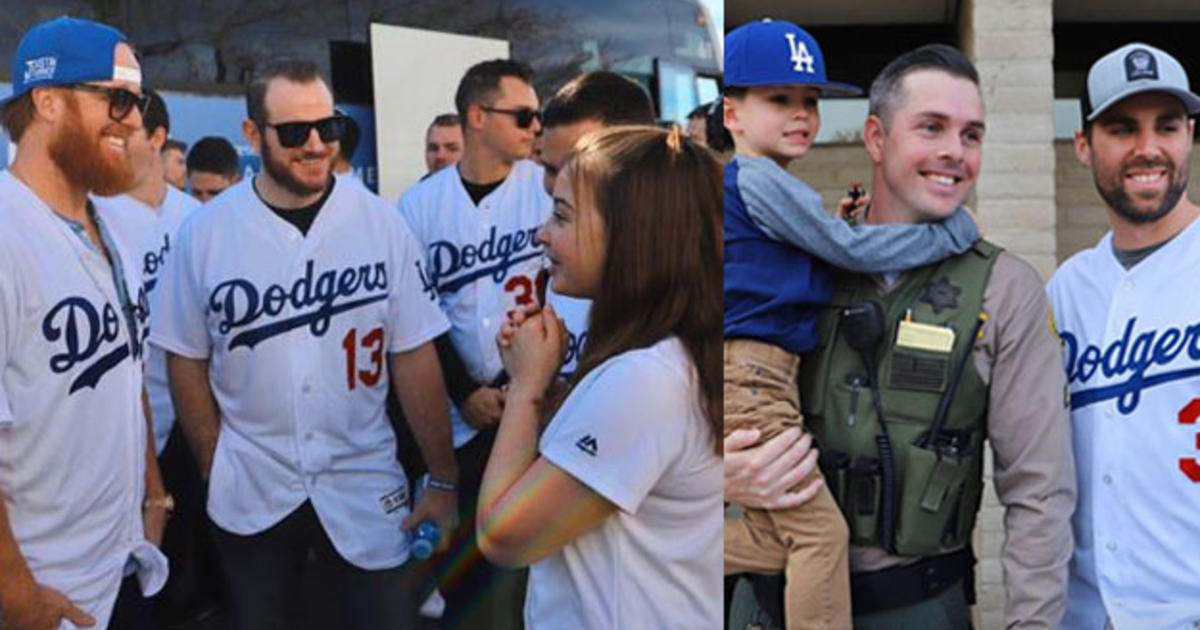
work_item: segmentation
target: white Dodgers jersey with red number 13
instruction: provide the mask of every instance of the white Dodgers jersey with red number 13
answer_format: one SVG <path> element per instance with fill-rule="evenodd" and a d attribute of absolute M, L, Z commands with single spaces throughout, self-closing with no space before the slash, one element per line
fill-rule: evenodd
<path fill-rule="evenodd" d="M 209 515 L 262 532 L 311 500 L 364 569 L 408 558 L 408 484 L 384 414 L 388 353 L 448 328 L 395 209 L 337 182 L 302 235 L 247 180 L 184 221 L 150 343 L 209 359 L 221 431 Z"/>

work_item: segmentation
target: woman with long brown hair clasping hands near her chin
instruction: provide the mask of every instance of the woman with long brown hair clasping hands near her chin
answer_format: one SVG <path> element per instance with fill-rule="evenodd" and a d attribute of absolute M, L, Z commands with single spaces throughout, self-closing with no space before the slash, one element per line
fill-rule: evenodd
<path fill-rule="evenodd" d="M 502 329 L 510 384 L 479 547 L 532 565 L 529 630 L 720 628 L 720 164 L 678 130 L 587 136 L 539 241 L 554 292 L 593 300 L 588 341 L 548 395 L 565 348 L 553 308 Z"/>

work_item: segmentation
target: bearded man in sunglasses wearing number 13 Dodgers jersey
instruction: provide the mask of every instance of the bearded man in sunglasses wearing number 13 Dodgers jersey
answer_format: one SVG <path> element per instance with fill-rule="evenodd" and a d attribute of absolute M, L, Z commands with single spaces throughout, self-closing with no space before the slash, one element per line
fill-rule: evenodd
<path fill-rule="evenodd" d="M 448 324 L 403 220 L 332 175 L 346 125 L 316 64 L 265 64 L 246 109 L 263 170 L 184 222 L 150 335 L 209 481 L 233 614 L 301 625 L 300 587 L 319 583 L 340 628 L 407 628 L 406 530 L 449 532 L 457 509 L 432 343 Z M 412 511 L 389 377 L 433 480 Z"/>

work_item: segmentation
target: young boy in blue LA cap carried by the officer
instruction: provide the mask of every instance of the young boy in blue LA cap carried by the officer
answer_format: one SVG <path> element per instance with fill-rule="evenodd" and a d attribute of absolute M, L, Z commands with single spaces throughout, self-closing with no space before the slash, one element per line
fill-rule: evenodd
<path fill-rule="evenodd" d="M 966 251 L 979 238 L 961 209 L 942 223 L 863 226 L 827 215 L 790 175 L 821 124 L 821 96 L 857 95 L 826 78 L 804 29 L 764 19 L 725 37 L 725 432 L 767 440 L 800 426 L 796 377 L 832 296 L 830 268 L 899 271 Z M 846 203 L 844 202 L 844 206 Z M 725 572 L 786 572 L 787 628 L 851 628 L 846 523 L 827 488 L 784 510 L 727 520 Z"/>

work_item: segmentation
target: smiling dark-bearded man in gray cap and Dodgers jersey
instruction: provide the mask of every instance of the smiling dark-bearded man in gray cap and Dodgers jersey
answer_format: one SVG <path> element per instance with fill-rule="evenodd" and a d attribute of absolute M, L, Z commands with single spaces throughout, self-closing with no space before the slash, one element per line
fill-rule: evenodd
<path fill-rule="evenodd" d="M 1112 229 L 1050 278 L 1079 506 L 1063 628 L 1200 628 L 1200 96 L 1130 43 L 1087 73 L 1075 155 Z"/>

